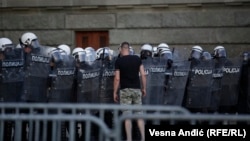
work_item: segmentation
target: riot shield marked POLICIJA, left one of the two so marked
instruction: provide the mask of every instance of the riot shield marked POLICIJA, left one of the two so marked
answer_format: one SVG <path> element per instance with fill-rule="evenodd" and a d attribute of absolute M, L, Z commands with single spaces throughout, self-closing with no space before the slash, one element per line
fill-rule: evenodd
<path fill-rule="evenodd" d="M 209 107 L 213 66 L 212 60 L 191 61 L 191 70 L 186 86 L 185 107 L 194 109 Z"/>

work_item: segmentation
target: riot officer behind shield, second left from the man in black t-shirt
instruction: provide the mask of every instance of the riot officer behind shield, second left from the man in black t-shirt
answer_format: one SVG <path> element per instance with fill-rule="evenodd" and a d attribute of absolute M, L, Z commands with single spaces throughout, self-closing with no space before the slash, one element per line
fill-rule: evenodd
<path fill-rule="evenodd" d="M 85 48 L 86 56 L 82 63 L 77 67 L 77 103 L 99 103 L 99 86 L 100 86 L 100 68 L 101 62 L 96 60 L 96 51 L 92 47 Z M 79 114 L 83 111 L 79 110 Z M 97 111 L 91 111 L 91 114 L 97 115 Z M 84 123 L 82 127 L 85 128 Z M 83 128 L 82 128 L 83 129 Z M 97 127 L 91 128 L 92 138 L 96 138 L 94 132 L 98 130 Z M 82 130 L 84 134 L 84 129 Z M 82 136 L 84 138 L 84 136 Z M 88 138 L 86 136 L 86 138 Z"/>

